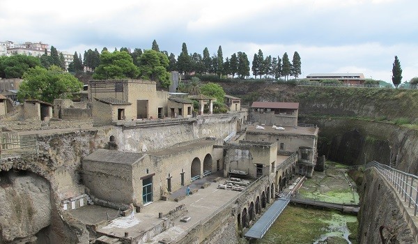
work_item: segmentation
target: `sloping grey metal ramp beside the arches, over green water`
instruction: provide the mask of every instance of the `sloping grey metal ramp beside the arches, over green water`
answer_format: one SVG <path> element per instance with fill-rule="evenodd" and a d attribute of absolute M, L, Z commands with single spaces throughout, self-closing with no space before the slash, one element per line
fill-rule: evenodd
<path fill-rule="evenodd" d="M 280 213 L 286 208 L 289 201 L 291 201 L 291 195 L 286 195 L 274 201 L 272 206 L 268 208 L 268 211 L 265 211 L 263 216 L 257 220 L 257 222 L 247 231 L 245 237 L 261 239 L 265 232 L 272 226 L 274 221 L 277 220 Z"/>

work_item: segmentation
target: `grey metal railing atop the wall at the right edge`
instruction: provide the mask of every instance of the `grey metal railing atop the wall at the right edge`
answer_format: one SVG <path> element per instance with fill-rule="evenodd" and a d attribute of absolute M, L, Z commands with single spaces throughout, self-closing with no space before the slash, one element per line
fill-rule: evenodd
<path fill-rule="evenodd" d="M 369 162 L 365 167 L 376 167 L 380 174 L 401 194 L 401 199 L 408 202 L 408 208 L 411 208 L 411 206 L 414 208 L 414 216 L 417 216 L 418 176 L 405 173 L 387 165 L 381 165 L 376 161 Z"/>

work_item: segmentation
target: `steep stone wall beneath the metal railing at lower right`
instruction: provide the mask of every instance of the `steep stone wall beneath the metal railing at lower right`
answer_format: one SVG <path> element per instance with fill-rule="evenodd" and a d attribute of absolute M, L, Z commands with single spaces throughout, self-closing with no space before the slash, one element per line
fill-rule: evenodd
<path fill-rule="evenodd" d="M 367 169 L 360 195 L 359 243 L 381 243 L 380 226 L 394 230 L 393 243 L 418 243 L 418 231 L 393 188 L 376 169 Z M 386 237 L 387 229 L 383 231 Z M 392 242 L 391 242 L 392 243 Z"/>

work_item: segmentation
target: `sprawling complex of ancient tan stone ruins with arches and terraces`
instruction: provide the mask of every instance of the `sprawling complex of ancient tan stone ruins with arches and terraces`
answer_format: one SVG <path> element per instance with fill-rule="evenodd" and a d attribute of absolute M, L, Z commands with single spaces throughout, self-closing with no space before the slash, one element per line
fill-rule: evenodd
<path fill-rule="evenodd" d="M 93 80 L 77 101 L 31 101 L 43 120 L 0 122 L 0 178 L 8 185 L 0 199 L 15 222 L 0 219 L 0 243 L 146 243 L 176 228 L 183 231 L 170 232 L 174 243 L 218 243 L 226 232 L 249 227 L 295 174 L 312 175 L 318 128 L 297 126 L 297 103 L 254 103 L 248 114 L 239 98 L 227 98 L 231 111 L 212 114 L 212 98 L 173 96 L 157 91 L 155 82 L 127 79 Z M 197 111 L 192 100 L 199 102 Z M 41 197 L 23 191 L 15 171 L 48 190 L 38 191 Z M 210 182 L 229 177 L 251 184 L 242 192 L 206 192 L 216 188 Z M 196 204 L 189 204 L 185 189 L 200 182 L 191 195 L 219 197 L 194 215 Z M 22 199 L 30 199 L 30 212 Z M 109 213 L 132 211 L 132 221 L 110 221 Z M 153 211 L 159 214 L 148 214 Z M 184 215 L 194 222 L 179 225 Z M 224 242 L 236 236 L 230 238 Z"/>

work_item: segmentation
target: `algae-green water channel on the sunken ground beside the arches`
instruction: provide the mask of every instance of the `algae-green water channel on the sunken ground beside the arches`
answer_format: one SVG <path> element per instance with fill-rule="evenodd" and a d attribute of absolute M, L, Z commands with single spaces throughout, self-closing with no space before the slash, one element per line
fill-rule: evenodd
<path fill-rule="evenodd" d="M 354 181 L 346 174 L 348 168 L 334 162 L 325 164 L 325 171 L 314 172 L 304 182 L 298 197 L 339 204 L 358 204 Z M 354 189 L 354 190 L 353 190 Z M 319 210 L 289 204 L 261 240 L 251 243 L 357 243 L 357 216 L 339 211 Z"/>

